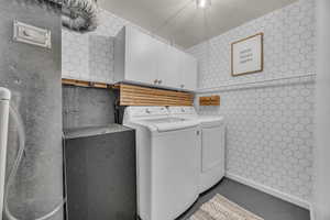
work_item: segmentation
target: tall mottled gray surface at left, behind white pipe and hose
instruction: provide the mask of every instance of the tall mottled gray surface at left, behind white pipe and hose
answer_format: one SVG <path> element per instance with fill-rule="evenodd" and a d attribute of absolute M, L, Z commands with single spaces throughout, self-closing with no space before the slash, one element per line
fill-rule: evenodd
<path fill-rule="evenodd" d="M 14 19 L 50 29 L 53 48 L 13 42 Z M 35 6 L 0 0 L 0 86 L 12 91 L 12 105 L 22 114 L 26 133 L 26 152 L 9 204 L 18 219 L 32 220 L 63 199 L 61 18 Z M 16 138 L 11 120 L 8 172 L 16 154 Z M 62 219 L 62 210 L 51 218 Z"/>

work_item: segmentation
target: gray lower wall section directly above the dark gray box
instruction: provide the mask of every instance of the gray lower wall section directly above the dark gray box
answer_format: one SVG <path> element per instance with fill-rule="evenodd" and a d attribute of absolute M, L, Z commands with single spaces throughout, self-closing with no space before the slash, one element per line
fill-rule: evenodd
<path fill-rule="evenodd" d="M 114 99 L 110 89 L 63 86 L 63 128 L 114 123 Z"/>

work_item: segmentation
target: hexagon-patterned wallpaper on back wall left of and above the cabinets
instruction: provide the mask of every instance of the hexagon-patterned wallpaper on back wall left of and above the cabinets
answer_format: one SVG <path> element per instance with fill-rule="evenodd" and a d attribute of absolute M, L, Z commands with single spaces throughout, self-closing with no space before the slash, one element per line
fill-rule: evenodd
<path fill-rule="evenodd" d="M 99 26 L 90 33 L 62 29 L 62 77 L 99 82 L 113 82 L 113 36 L 130 25 L 148 33 L 106 10 L 100 10 Z M 161 41 L 163 38 L 154 35 Z"/>

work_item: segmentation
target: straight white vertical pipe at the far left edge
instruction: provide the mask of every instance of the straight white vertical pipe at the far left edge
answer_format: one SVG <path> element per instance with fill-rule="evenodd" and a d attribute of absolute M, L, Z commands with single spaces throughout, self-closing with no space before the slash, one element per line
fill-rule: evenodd
<path fill-rule="evenodd" d="M 2 220 L 10 91 L 0 87 L 0 220 Z"/>

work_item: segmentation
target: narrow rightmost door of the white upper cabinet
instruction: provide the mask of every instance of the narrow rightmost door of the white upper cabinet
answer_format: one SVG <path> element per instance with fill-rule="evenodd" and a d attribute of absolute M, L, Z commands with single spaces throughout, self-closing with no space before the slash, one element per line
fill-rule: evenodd
<path fill-rule="evenodd" d="M 180 88 L 196 90 L 197 88 L 197 59 L 191 55 L 182 53 L 180 55 Z"/>

